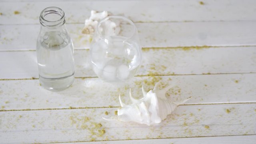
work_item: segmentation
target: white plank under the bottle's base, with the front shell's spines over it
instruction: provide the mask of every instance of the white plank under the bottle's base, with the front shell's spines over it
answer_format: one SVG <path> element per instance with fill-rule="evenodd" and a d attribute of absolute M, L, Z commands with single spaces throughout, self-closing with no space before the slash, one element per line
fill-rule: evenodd
<path fill-rule="evenodd" d="M 141 86 L 154 88 L 162 80 L 163 86 L 177 82 L 166 96 L 186 104 L 223 104 L 256 102 L 256 74 L 221 74 L 192 76 L 143 76 L 125 84 L 110 84 L 98 78 L 76 79 L 73 86 L 61 92 L 50 92 L 38 80 L 1 80 L 0 110 L 68 109 L 79 107 L 120 106 L 118 95 L 130 104 L 129 90 L 136 98 L 142 97 Z"/>

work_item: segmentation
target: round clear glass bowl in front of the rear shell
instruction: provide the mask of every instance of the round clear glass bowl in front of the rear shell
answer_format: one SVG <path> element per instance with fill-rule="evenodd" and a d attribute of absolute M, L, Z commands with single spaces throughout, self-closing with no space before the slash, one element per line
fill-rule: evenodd
<path fill-rule="evenodd" d="M 142 61 L 142 50 L 134 23 L 123 16 L 107 16 L 96 28 L 90 46 L 93 70 L 106 82 L 130 80 Z"/>

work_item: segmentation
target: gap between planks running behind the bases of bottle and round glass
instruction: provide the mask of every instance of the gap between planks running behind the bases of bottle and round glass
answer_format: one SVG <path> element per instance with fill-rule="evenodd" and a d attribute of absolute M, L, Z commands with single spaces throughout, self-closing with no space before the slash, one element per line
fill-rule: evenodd
<path fill-rule="evenodd" d="M 197 76 L 197 75 L 220 75 L 220 74 L 256 74 L 256 72 L 241 72 L 241 73 L 202 73 L 202 74 L 149 74 L 149 75 L 137 75 L 135 77 L 145 77 L 145 76 Z M 75 77 L 75 78 L 98 78 L 97 76 L 88 76 L 88 77 Z M 0 78 L 0 80 L 38 80 L 39 78 Z"/>

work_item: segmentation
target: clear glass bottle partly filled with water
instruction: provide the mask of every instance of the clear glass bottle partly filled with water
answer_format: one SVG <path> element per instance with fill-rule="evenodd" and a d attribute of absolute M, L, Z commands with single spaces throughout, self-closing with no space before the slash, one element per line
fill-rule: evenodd
<path fill-rule="evenodd" d="M 64 90 L 74 82 L 74 50 L 64 11 L 57 7 L 45 8 L 39 20 L 36 53 L 40 84 L 47 90 Z"/>

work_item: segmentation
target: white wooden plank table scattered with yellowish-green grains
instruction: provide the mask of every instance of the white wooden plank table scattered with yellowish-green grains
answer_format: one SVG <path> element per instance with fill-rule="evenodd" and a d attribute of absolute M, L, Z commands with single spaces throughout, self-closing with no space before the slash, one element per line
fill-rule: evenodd
<path fill-rule="evenodd" d="M 74 41 L 76 80 L 50 92 L 38 81 L 43 8 L 58 6 Z M 102 82 L 81 34 L 90 10 L 124 14 L 138 28 L 140 70 L 129 84 Z M 162 80 L 173 101 L 192 96 L 156 126 L 105 121 Z M 101 124 L 101 126 L 100 126 Z M 105 133 L 104 133 L 105 130 Z M 90 142 L 95 141 L 95 142 Z M 0 0 L 0 143 L 256 143 L 255 0 Z"/>

